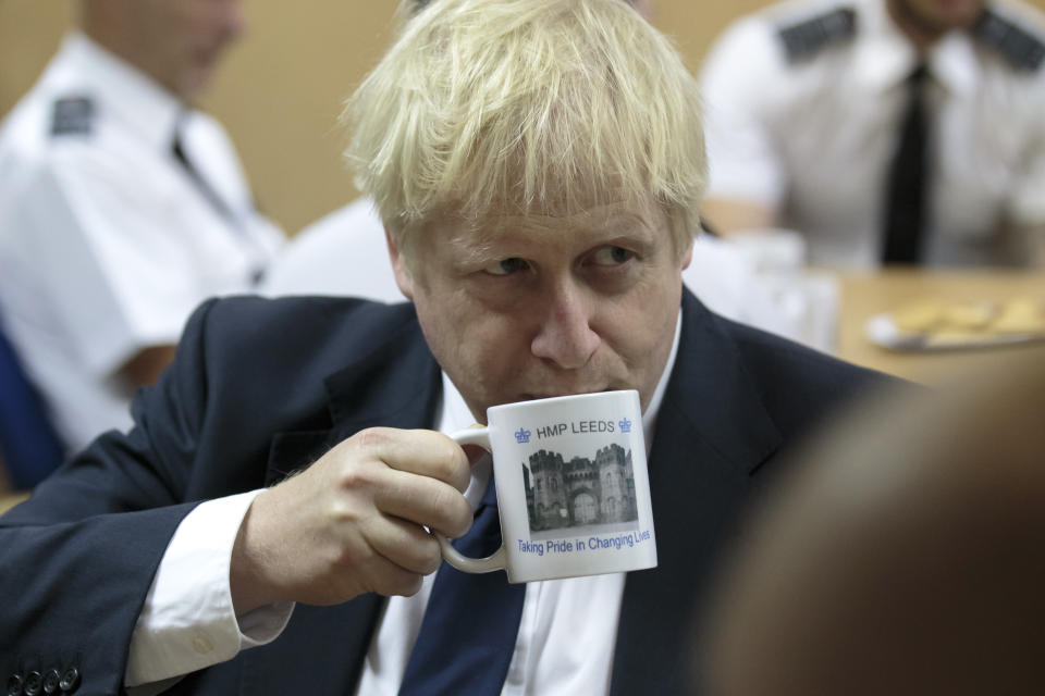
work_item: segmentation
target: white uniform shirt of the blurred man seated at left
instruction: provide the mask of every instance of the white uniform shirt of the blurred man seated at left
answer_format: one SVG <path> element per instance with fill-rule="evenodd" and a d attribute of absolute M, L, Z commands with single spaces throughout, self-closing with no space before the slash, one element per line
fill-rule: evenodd
<path fill-rule="evenodd" d="M 224 212 L 174 159 L 179 122 Z M 83 35 L 0 128 L 0 318 L 73 450 L 130 424 L 114 372 L 250 288 L 282 238 L 221 126 Z"/>

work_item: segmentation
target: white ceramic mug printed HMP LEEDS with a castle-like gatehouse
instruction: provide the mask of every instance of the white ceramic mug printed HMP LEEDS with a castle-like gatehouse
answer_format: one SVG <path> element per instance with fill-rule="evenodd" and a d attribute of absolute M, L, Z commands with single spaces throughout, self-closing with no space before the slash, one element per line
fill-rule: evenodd
<path fill-rule="evenodd" d="M 505 403 L 487 422 L 451 437 L 491 452 L 503 542 L 476 559 L 437 534 L 451 566 L 512 583 L 656 566 L 638 391 Z"/>

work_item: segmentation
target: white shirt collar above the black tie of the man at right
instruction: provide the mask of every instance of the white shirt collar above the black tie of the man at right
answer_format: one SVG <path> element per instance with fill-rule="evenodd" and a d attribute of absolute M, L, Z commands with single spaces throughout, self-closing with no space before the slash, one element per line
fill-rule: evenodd
<path fill-rule="evenodd" d="M 907 79 L 918 64 L 918 52 L 893 22 L 883 0 L 862 2 L 859 16 L 855 78 L 881 94 Z M 980 69 L 968 32 L 941 38 L 930 48 L 927 64 L 933 80 L 948 91 L 968 95 L 975 89 Z"/>

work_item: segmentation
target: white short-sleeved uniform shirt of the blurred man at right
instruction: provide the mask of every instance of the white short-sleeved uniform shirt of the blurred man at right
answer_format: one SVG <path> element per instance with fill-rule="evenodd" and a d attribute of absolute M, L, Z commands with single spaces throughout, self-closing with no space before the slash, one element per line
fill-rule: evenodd
<path fill-rule="evenodd" d="M 855 35 L 789 62 L 780 28 L 838 8 L 855 10 Z M 993 10 L 1045 37 L 1025 5 Z M 813 263 L 877 264 L 886 171 L 917 62 L 883 0 L 788 2 L 739 20 L 701 76 L 709 197 L 782 211 Z M 1016 70 L 963 32 L 937 41 L 927 65 L 926 264 L 1032 262 L 1037 240 L 999 231 L 1045 225 L 1045 66 Z"/>

